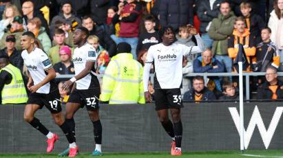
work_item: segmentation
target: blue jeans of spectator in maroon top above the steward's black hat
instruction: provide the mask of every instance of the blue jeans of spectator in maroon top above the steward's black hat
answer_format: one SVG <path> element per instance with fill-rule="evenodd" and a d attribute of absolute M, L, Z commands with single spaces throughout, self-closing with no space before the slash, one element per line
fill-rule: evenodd
<path fill-rule="evenodd" d="M 132 47 L 131 53 L 133 54 L 134 59 L 137 58 L 136 46 L 138 46 L 138 37 L 133 37 L 133 38 L 117 37 L 115 34 L 112 34 L 110 37 L 113 39 L 116 45 L 118 45 L 118 43 L 121 43 L 121 42 L 125 42 L 131 45 Z"/>

